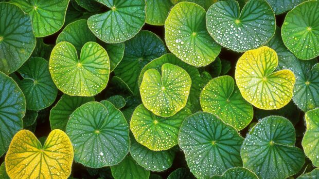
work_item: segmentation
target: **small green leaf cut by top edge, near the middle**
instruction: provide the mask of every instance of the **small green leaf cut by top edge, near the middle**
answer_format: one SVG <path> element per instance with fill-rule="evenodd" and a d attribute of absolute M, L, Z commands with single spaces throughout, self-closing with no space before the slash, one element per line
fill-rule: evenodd
<path fill-rule="evenodd" d="M 146 20 L 150 25 L 162 26 L 173 4 L 170 0 L 146 0 Z"/>

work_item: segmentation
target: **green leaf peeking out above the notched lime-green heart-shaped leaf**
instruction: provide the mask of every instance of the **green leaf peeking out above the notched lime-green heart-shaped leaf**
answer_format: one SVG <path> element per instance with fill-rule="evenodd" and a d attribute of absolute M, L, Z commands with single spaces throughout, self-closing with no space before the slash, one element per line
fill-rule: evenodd
<path fill-rule="evenodd" d="M 74 45 L 78 54 L 81 54 L 81 49 L 87 42 L 96 42 L 95 35 L 88 29 L 87 21 L 84 19 L 75 21 L 65 26 L 59 34 L 56 43 L 69 42 Z"/>

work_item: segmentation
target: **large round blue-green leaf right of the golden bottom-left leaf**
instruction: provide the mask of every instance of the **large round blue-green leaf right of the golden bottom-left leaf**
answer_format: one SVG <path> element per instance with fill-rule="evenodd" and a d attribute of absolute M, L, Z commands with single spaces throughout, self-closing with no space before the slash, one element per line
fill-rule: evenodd
<path fill-rule="evenodd" d="M 66 125 L 74 160 L 91 168 L 118 164 L 130 147 L 129 125 L 123 114 L 110 102 L 101 103 L 80 106 Z"/>

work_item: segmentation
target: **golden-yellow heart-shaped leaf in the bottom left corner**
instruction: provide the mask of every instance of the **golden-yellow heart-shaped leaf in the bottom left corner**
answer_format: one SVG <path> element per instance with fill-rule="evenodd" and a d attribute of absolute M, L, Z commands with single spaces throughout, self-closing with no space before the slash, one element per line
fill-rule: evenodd
<path fill-rule="evenodd" d="M 5 158 L 11 179 L 67 178 L 73 163 L 73 147 L 61 130 L 52 130 L 44 145 L 28 130 L 17 132 Z"/>

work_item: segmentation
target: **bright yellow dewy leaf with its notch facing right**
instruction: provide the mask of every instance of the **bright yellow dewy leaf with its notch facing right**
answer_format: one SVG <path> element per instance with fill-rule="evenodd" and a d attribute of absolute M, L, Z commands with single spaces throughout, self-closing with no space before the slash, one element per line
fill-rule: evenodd
<path fill-rule="evenodd" d="M 245 52 L 239 59 L 235 79 L 243 98 L 260 109 L 279 109 L 292 98 L 295 76 L 290 70 L 274 72 L 276 52 L 261 47 Z"/>

